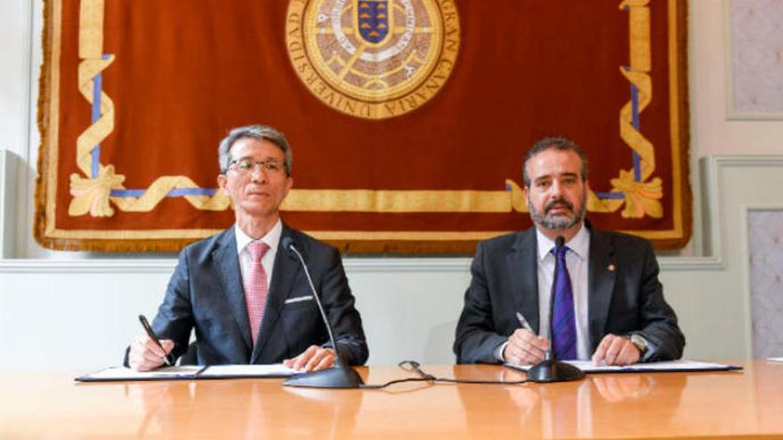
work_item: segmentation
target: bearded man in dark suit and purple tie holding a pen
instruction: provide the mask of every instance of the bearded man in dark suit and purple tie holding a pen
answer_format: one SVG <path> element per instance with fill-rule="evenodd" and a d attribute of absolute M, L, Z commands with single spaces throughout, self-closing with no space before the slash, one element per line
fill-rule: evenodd
<path fill-rule="evenodd" d="M 456 326 L 457 363 L 536 364 L 550 340 L 559 360 L 626 365 L 682 356 L 685 338 L 650 242 L 585 220 L 582 149 L 563 138 L 538 141 L 525 156 L 524 181 L 534 227 L 479 244 Z"/>

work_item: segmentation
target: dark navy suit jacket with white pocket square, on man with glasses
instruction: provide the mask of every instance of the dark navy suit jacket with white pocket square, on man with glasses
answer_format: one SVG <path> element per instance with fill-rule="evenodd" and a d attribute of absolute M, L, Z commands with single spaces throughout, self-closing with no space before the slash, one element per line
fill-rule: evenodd
<path fill-rule="evenodd" d="M 158 336 L 174 340 L 175 357 L 188 348 L 191 329 L 196 331 L 198 364 L 274 364 L 301 354 L 311 345 L 327 344 L 327 329 L 315 300 L 286 304 L 287 299 L 312 295 L 301 263 L 282 247 L 287 236 L 307 262 L 343 362 L 367 361 L 367 341 L 340 253 L 285 224 L 255 347 L 234 228 L 180 252 L 163 304 L 152 321 Z"/>

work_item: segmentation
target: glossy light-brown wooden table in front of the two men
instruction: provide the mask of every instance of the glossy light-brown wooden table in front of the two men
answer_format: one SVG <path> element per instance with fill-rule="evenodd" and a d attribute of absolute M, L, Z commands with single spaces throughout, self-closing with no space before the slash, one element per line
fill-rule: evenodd
<path fill-rule="evenodd" d="M 288 388 L 281 380 L 93 383 L 4 372 L 0 438 L 783 438 L 783 364 L 742 372 L 594 374 L 569 383 L 385 390 Z M 494 365 L 426 366 L 519 380 Z M 413 376 L 360 368 L 368 383 Z"/>

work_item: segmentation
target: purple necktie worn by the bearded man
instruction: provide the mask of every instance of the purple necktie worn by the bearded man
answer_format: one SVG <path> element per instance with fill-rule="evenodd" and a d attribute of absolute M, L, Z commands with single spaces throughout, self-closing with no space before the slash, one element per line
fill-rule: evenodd
<path fill-rule="evenodd" d="M 577 322 L 574 318 L 574 292 L 571 277 L 566 267 L 566 252 L 569 248 L 553 249 L 557 258 L 558 271 L 554 278 L 554 305 L 552 316 L 552 347 L 559 361 L 577 358 Z"/>

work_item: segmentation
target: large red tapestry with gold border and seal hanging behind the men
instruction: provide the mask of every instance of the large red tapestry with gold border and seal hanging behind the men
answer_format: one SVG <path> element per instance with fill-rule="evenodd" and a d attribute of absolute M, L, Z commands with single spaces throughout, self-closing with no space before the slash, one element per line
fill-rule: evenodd
<path fill-rule="evenodd" d="M 294 150 L 287 223 L 344 252 L 472 252 L 528 228 L 545 136 L 591 158 L 588 218 L 690 238 L 685 2 L 47 0 L 36 239 L 175 251 L 228 228 L 217 145 Z"/>

